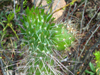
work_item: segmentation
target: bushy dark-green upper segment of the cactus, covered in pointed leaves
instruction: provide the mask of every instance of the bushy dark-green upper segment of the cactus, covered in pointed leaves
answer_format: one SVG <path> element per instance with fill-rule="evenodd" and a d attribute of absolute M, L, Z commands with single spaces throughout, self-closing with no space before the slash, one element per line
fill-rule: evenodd
<path fill-rule="evenodd" d="M 41 13 L 41 14 L 40 14 Z M 29 40 L 28 43 L 33 49 L 39 48 L 44 50 L 44 47 L 50 45 L 50 39 L 52 38 L 52 26 L 53 23 L 49 23 L 52 15 L 44 14 L 44 10 L 39 11 L 38 8 L 34 10 L 34 7 L 29 10 L 26 9 L 26 16 L 23 16 L 22 20 L 23 27 L 22 30 L 24 34 L 24 39 Z M 53 19 L 52 19 L 53 20 Z"/>

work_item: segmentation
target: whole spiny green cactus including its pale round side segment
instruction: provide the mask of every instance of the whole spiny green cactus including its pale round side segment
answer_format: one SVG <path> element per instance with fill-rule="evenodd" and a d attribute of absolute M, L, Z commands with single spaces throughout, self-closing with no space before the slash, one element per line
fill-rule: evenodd
<path fill-rule="evenodd" d="M 54 63 L 50 57 L 53 55 L 52 49 L 64 50 L 75 40 L 66 25 L 55 25 L 53 20 L 52 15 L 46 14 L 44 9 L 27 7 L 25 10 L 20 30 L 22 42 L 29 47 L 30 52 L 28 75 L 53 75 L 52 67 L 48 66 Z"/>

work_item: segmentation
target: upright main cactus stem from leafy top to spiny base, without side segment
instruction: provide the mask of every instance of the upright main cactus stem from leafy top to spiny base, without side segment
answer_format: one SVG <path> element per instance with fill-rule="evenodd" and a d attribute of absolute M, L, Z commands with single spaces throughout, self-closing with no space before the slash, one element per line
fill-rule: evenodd
<path fill-rule="evenodd" d="M 22 20 L 24 29 L 21 28 L 21 33 L 24 35 L 23 42 L 29 46 L 30 59 L 34 58 L 34 62 L 30 62 L 29 65 L 35 65 L 28 69 L 28 75 L 32 75 L 35 71 L 35 75 L 41 73 L 52 75 L 46 63 L 53 65 L 53 60 L 45 55 L 52 53 L 51 39 L 54 36 L 52 32 L 54 23 L 50 22 L 53 20 L 52 15 L 45 14 L 43 9 L 34 7 L 31 10 L 27 8 L 25 12 L 26 15 Z"/>

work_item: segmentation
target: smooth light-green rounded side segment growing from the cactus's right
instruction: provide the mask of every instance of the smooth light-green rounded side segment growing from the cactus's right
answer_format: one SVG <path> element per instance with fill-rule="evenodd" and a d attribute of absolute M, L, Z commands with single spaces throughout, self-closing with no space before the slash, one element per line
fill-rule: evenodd
<path fill-rule="evenodd" d="M 55 36 L 53 37 L 53 41 L 57 50 L 65 50 L 66 47 L 71 46 L 74 40 L 75 37 L 72 33 L 68 32 L 66 26 L 60 24 L 55 27 Z"/>

